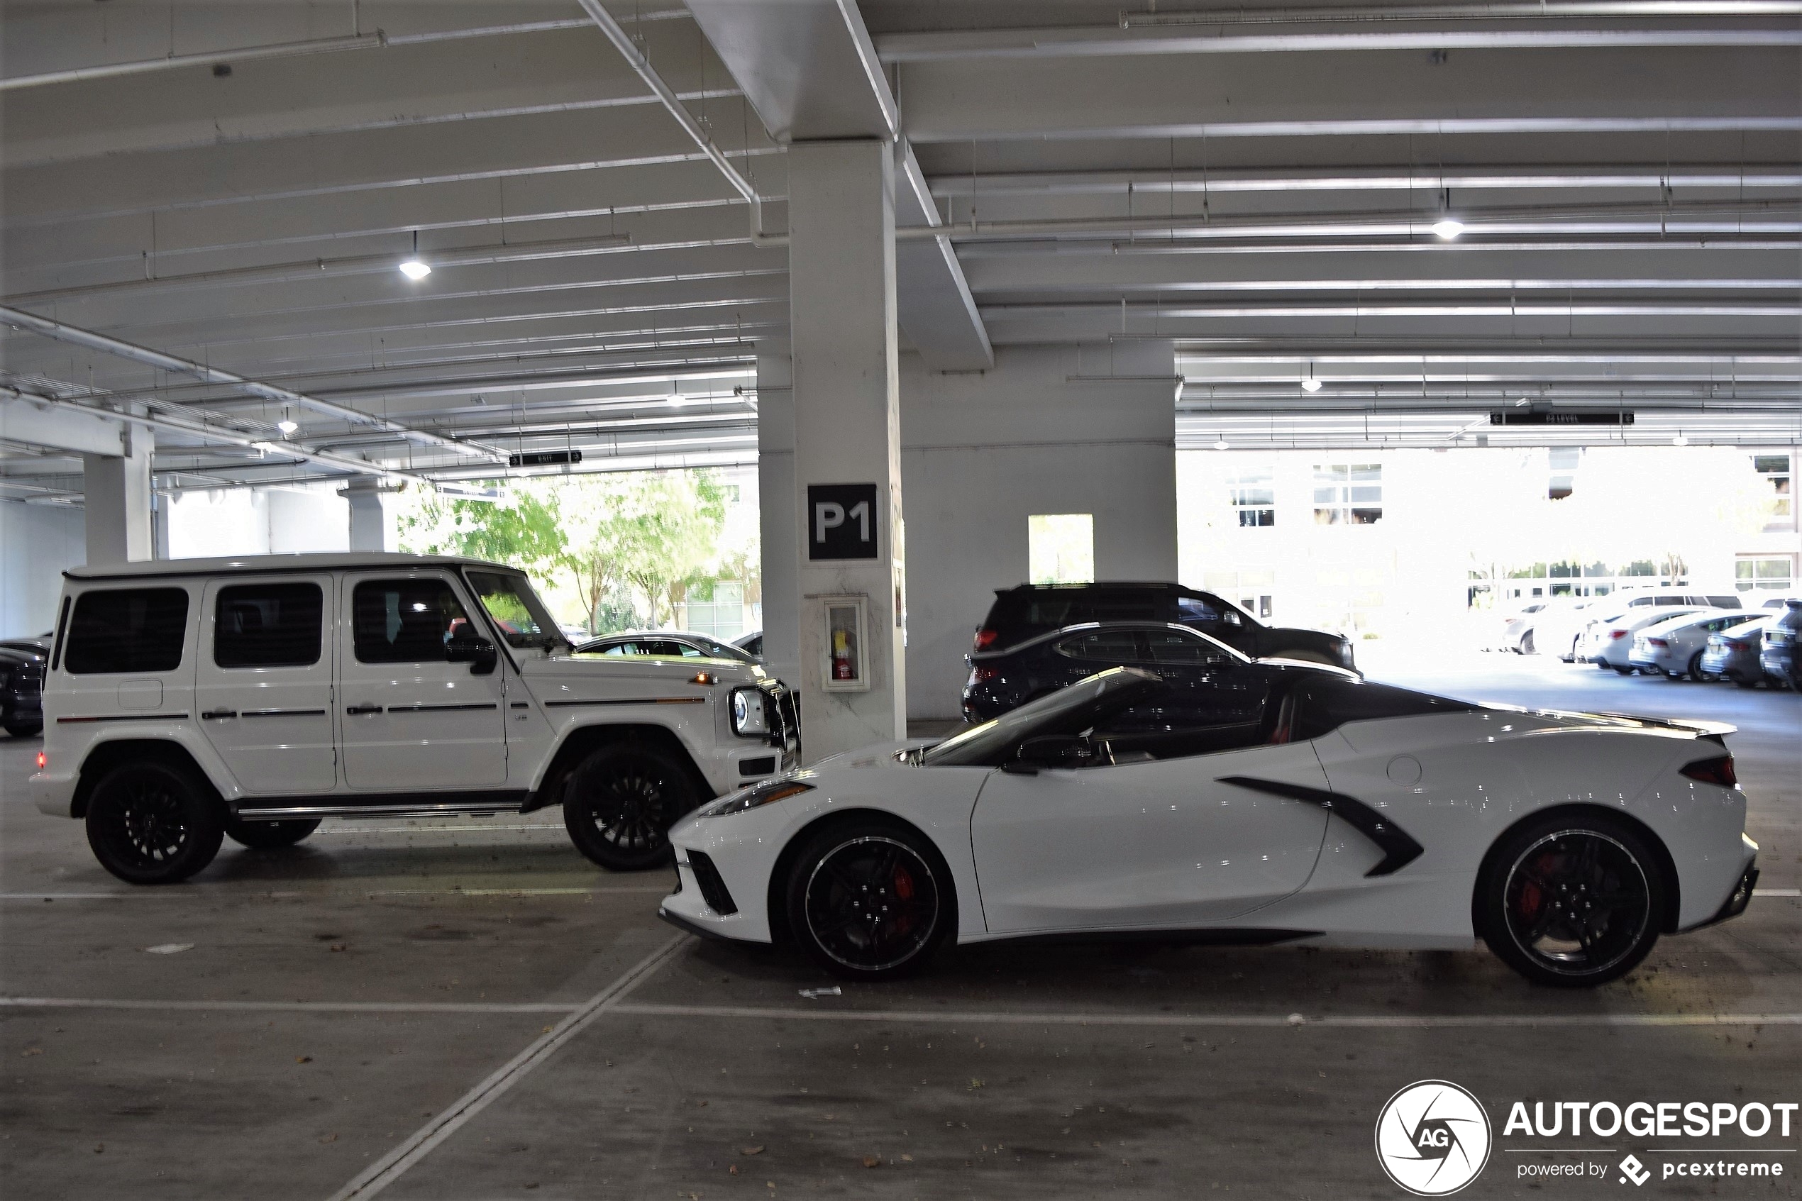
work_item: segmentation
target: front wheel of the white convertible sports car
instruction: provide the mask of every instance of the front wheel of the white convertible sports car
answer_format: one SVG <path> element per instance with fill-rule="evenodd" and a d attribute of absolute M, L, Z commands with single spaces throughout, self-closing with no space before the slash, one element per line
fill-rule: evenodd
<path fill-rule="evenodd" d="M 789 929 L 825 971 L 845 980 L 917 972 L 955 924 L 944 859 L 919 834 L 888 823 L 822 832 L 787 882 Z"/>

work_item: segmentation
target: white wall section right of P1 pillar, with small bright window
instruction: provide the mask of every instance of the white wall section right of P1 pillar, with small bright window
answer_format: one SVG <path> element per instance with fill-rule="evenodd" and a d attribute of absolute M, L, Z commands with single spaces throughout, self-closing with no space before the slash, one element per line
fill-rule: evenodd
<path fill-rule="evenodd" d="M 901 357 L 910 718 L 959 715 L 973 630 L 1027 580 L 1027 517 L 1092 513 L 1097 580 L 1177 578 L 1175 387 L 1168 342 L 951 375 Z"/>

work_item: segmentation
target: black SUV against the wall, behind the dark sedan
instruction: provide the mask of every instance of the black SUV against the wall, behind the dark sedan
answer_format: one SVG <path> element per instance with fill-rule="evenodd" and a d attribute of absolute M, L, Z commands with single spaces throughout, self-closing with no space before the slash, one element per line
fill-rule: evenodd
<path fill-rule="evenodd" d="M 973 654 L 1088 621 L 1159 621 L 1216 637 L 1251 659 L 1299 659 L 1350 668 L 1352 641 L 1321 630 L 1269 627 L 1213 592 L 1180 583 L 1022 583 L 997 589 Z"/>

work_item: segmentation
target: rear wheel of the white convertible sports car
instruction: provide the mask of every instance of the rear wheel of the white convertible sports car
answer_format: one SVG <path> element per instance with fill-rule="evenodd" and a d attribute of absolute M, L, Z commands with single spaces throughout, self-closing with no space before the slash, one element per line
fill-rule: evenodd
<path fill-rule="evenodd" d="M 1604 985 L 1658 942 L 1665 880 L 1645 837 L 1606 816 L 1537 821 L 1490 852 L 1478 880 L 1483 942 L 1534 983 Z"/>

